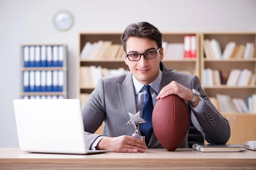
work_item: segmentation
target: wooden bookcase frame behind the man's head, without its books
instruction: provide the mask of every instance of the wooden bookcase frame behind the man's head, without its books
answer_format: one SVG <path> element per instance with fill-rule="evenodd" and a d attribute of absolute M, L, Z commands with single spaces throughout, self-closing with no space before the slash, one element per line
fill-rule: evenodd
<path fill-rule="evenodd" d="M 102 68 L 108 69 L 118 69 L 125 68 L 129 71 L 128 66 L 124 62 L 124 58 L 116 58 L 116 59 L 106 59 L 106 58 L 98 58 L 98 59 L 85 59 L 81 58 L 81 52 L 86 45 L 87 42 L 94 43 L 102 41 L 111 41 L 113 44 L 122 44 L 120 40 L 122 32 L 117 33 L 80 33 L 79 34 L 79 59 L 78 59 L 78 91 L 77 96 L 81 99 L 81 104 L 83 105 L 86 99 L 82 97 L 83 94 L 90 94 L 94 90 L 94 86 L 85 86 L 81 85 L 81 68 L 83 66 L 101 66 Z M 200 51 L 199 51 L 199 34 L 196 32 L 164 32 L 163 33 L 163 41 L 167 43 L 183 43 L 185 35 L 195 35 L 196 38 L 196 57 L 195 58 L 169 58 L 164 56 L 163 63 L 167 68 L 178 70 L 178 71 L 186 71 L 191 74 L 195 74 L 200 77 Z M 165 52 L 165 49 L 164 49 Z M 87 96 L 88 97 L 88 96 Z M 102 127 L 101 127 L 102 128 Z M 97 134 L 102 134 L 102 131 L 97 131 Z"/>

